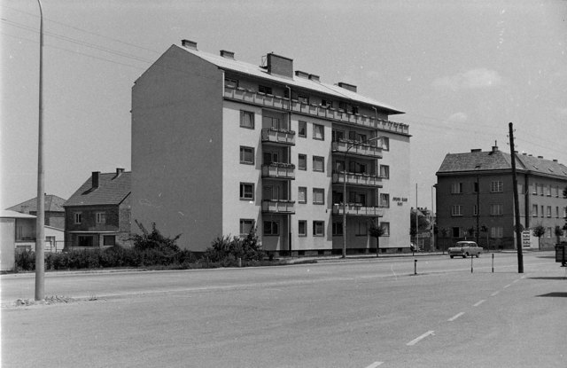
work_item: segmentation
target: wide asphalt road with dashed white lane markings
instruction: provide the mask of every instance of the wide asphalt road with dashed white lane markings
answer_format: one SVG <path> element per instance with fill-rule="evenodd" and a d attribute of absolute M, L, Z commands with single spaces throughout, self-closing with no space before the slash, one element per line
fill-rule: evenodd
<path fill-rule="evenodd" d="M 417 259 L 417 263 L 414 262 Z M 553 254 L 4 275 L 3 367 L 566 367 Z M 416 266 L 417 275 L 414 270 Z"/>

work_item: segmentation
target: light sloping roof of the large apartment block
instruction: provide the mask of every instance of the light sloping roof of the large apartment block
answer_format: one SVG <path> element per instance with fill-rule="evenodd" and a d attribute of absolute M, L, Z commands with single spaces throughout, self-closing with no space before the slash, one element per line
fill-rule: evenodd
<path fill-rule="evenodd" d="M 389 110 L 389 114 L 404 114 L 402 111 L 392 107 L 392 106 L 388 106 L 382 102 L 378 102 L 372 98 L 367 98 L 364 97 L 356 92 L 353 92 L 351 90 L 346 90 L 342 87 L 338 87 L 337 85 L 333 85 L 333 84 L 328 84 L 328 83 L 323 83 L 323 82 L 319 82 L 319 81 L 315 81 L 315 80 L 311 80 L 311 79 L 307 79 L 307 78 L 302 78 L 299 77 L 297 75 L 294 75 L 291 79 L 289 78 L 284 78 L 281 76 L 277 76 L 274 74 L 268 74 L 268 72 L 266 71 L 266 69 L 254 65 L 254 64 L 250 64 L 250 63 L 246 63 L 244 61 L 240 61 L 240 60 L 236 60 L 236 59 L 229 59 L 229 58 L 224 58 L 221 55 L 214 55 L 205 51 L 199 51 L 199 50 L 192 50 L 192 49 L 188 49 L 185 47 L 180 47 L 177 45 L 174 45 L 175 47 L 179 47 L 181 50 L 183 51 L 187 51 L 190 52 L 191 54 L 198 56 L 201 59 L 204 59 L 212 64 L 214 64 L 217 67 L 220 67 L 221 69 L 224 70 L 231 70 L 231 71 L 235 71 L 238 73 L 243 73 L 243 74 L 248 74 L 248 75 L 252 75 L 258 78 L 262 78 L 262 79 L 268 79 L 270 81 L 273 82 L 280 82 L 283 84 L 289 84 L 291 86 L 295 86 L 295 87 L 299 87 L 302 89 L 306 89 L 306 90 L 315 90 L 319 93 L 322 94 L 326 94 L 326 95 L 330 95 L 330 96 L 334 96 L 336 98 L 346 98 L 346 99 L 351 99 L 354 101 L 359 101 L 361 103 L 364 104 L 369 104 L 372 106 L 379 106 L 382 107 L 386 110 Z"/>

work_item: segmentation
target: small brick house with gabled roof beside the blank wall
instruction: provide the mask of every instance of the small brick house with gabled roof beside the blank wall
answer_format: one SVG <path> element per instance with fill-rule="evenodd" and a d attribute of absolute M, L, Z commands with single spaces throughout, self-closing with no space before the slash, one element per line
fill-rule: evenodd
<path fill-rule="evenodd" d="M 66 249 L 128 246 L 131 172 L 94 171 L 63 205 Z"/>

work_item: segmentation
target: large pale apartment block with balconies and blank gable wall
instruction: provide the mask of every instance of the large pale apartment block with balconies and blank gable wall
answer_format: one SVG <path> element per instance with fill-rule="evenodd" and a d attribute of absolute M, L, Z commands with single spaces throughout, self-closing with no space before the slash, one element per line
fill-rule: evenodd
<path fill-rule="evenodd" d="M 256 228 L 272 254 L 409 246 L 403 114 L 268 53 L 172 45 L 132 89 L 132 218 L 203 251 Z M 346 186 L 346 195 L 345 195 Z"/>

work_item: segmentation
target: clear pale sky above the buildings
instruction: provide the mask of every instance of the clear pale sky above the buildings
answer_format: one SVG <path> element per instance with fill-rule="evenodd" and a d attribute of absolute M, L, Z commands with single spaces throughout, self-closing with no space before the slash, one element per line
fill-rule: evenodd
<path fill-rule="evenodd" d="M 406 114 L 412 206 L 447 153 L 498 145 L 567 165 L 567 1 L 43 0 L 45 192 L 131 168 L 131 88 L 182 39 L 347 82 Z M 39 7 L 0 0 L 0 207 L 37 194 Z"/>

